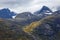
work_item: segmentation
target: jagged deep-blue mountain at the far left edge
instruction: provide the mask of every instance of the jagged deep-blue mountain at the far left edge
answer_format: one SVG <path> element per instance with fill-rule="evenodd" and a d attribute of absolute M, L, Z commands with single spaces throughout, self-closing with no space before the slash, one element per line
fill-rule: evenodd
<path fill-rule="evenodd" d="M 8 8 L 4 8 L 0 10 L 0 18 L 12 18 L 12 16 L 15 16 L 16 14 L 14 12 L 11 12 Z"/>

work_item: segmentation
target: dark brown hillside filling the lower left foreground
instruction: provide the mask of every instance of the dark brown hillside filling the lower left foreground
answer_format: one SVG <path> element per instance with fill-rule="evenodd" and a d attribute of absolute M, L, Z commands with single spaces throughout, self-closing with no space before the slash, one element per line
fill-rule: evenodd
<path fill-rule="evenodd" d="M 34 40 L 15 21 L 0 19 L 0 40 Z"/>

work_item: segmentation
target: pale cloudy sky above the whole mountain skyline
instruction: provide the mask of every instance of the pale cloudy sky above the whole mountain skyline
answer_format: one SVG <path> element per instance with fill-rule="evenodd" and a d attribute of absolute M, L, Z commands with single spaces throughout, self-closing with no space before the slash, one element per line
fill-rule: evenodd
<path fill-rule="evenodd" d="M 9 8 L 16 13 L 35 12 L 42 6 L 47 6 L 52 10 L 60 8 L 60 0 L 0 0 L 0 9 Z"/>

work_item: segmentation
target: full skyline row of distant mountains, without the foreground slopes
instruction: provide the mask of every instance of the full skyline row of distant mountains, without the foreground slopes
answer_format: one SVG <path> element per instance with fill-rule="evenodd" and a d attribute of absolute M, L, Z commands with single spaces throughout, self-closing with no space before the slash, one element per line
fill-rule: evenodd
<path fill-rule="evenodd" d="M 15 13 L 10 11 L 8 8 L 4 8 L 0 10 L 0 18 L 12 18 L 13 16 L 16 16 L 16 18 L 27 18 L 27 19 L 33 19 L 35 16 L 39 18 L 44 18 L 46 16 L 52 15 L 56 12 L 59 12 L 60 10 L 57 10 L 53 12 L 50 8 L 47 6 L 43 6 L 40 10 L 34 12 L 33 14 L 31 12 L 23 12 L 23 13 Z"/>

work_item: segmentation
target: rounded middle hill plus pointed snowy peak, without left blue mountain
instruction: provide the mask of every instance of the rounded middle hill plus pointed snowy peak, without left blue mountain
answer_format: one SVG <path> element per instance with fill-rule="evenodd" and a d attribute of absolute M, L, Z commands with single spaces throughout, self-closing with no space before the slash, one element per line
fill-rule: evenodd
<path fill-rule="evenodd" d="M 19 24 L 27 25 L 31 22 L 39 21 L 47 16 L 51 16 L 56 13 L 58 14 L 58 11 L 53 12 L 48 7 L 43 6 L 40 10 L 34 12 L 33 14 L 31 12 L 19 13 L 16 15 L 15 20 L 16 22 L 19 22 Z"/>

